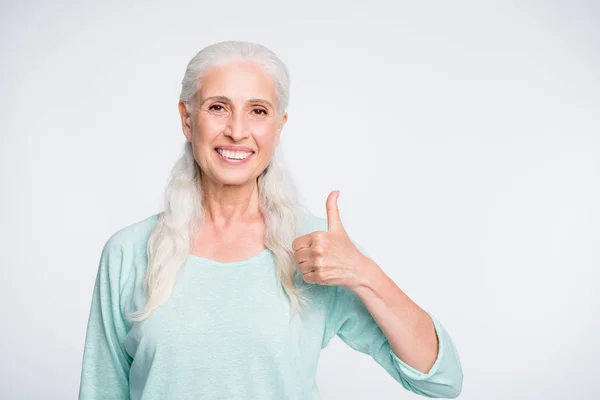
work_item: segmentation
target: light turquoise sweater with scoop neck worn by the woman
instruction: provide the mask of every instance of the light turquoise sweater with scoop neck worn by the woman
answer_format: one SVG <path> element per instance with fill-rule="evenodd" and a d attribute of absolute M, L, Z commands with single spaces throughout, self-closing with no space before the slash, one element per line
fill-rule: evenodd
<path fill-rule="evenodd" d="M 394 354 L 362 301 L 346 288 L 309 285 L 298 273 L 297 285 L 310 286 L 304 293 L 311 304 L 290 321 L 269 249 L 228 263 L 190 255 L 167 303 L 143 323 L 129 323 L 123 315 L 146 298 L 146 245 L 157 216 L 120 229 L 104 245 L 80 399 L 319 399 L 317 363 L 335 335 L 408 390 L 426 397 L 460 393 L 456 348 L 433 316 L 440 345 L 428 374 Z M 304 214 L 302 230 L 326 231 L 327 221 Z"/>

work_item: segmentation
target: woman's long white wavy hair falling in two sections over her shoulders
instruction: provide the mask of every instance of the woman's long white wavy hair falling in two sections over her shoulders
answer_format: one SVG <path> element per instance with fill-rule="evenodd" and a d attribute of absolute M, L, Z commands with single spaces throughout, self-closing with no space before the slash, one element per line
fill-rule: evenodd
<path fill-rule="evenodd" d="M 289 72 L 271 50 L 256 43 L 225 41 L 200 50 L 190 60 L 183 77 L 179 99 L 188 113 L 194 112 L 194 98 L 206 72 L 219 65 L 250 61 L 271 77 L 276 92 L 276 115 L 281 120 L 289 103 Z M 279 142 L 281 143 L 281 141 Z M 297 264 L 292 241 L 300 234 L 300 218 L 307 212 L 283 159 L 281 146 L 257 178 L 260 212 L 266 224 L 265 246 L 274 253 L 277 277 L 290 301 L 291 313 L 301 311 L 307 300 L 294 285 Z M 165 190 L 165 210 L 159 214 L 148 240 L 148 270 L 144 279 L 145 305 L 132 313 L 131 321 L 142 321 L 164 304 L 185 263 L 192 240 L 202 225 L 203 193 L 201 173 L 190 142 L 171 171 Z"/>

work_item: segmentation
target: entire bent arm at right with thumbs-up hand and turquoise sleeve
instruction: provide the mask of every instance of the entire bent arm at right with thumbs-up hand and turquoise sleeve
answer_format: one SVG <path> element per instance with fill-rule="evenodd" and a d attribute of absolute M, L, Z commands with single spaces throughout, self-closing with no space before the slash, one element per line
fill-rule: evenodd
<path fill-rule="evenodd" d="M 450 336 L 350 239 L 337 195 L 327 198 L 327 220 L 314 218 L 312 232 L 292 242 L 303 279 L 332 286 L 321 347 L 337 334 L 404 388 L 426 397 L 457 397 L 463 373 Z"/>

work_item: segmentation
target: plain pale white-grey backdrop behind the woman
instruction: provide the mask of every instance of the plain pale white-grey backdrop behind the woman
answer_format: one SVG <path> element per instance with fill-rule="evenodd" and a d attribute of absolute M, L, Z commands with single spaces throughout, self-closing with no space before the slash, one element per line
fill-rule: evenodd
<path fill-rule="evenodd" d="M 288 3 L 1 3 L 0 398 L 76 398 L 102 246 L 162 209 L 185 66 L 237 39 L 290 68 L 303 196 L 341 190 L 453 337 L 460 398 L 597 399 L 599 3 Z M 417 398 L 337 338 L 318 383 Z"/>

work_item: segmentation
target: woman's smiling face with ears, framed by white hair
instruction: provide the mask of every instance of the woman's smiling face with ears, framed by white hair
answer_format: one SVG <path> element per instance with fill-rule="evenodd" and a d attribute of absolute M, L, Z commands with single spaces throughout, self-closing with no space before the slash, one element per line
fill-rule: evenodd
<path fill-rule="evenodd" d="M 182 102 L 179 112 L 203 178 L 221 185 L 254 182 L 287 121 L 287 114 L 277 118 L 273 82 L 259 65 L 240 62 L 211 69 L 200 86 L 191 115 Z"/>

